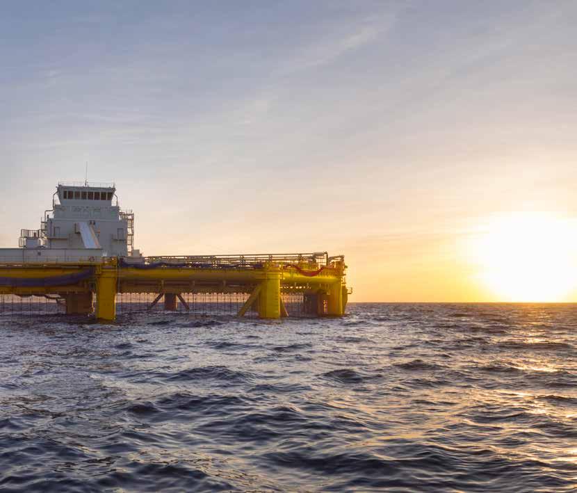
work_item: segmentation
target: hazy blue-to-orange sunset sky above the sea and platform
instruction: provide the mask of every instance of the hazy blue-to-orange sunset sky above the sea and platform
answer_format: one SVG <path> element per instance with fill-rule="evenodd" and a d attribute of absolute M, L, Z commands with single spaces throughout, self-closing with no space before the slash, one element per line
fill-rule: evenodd
<path fill-rule="evenodd" d="M 352 301 L 494 301 L 487 225 L 576 217 L 573 0 L 0 9 L 0 246 L 88 162 L 144 254 L 327 250 Z"/>

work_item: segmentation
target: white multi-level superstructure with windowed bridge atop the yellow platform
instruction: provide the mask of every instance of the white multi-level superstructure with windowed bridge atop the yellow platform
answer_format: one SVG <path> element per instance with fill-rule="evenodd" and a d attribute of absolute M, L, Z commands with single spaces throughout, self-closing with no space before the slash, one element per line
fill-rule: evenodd
<path fill-rule="evenodd" d="M 40 229 L 22 229 L 19 249 L 0 249 L 0 261 L 138 257 L 133 238 L 134 214 L 120 210 L 114 184 L 61 182 Z"/>

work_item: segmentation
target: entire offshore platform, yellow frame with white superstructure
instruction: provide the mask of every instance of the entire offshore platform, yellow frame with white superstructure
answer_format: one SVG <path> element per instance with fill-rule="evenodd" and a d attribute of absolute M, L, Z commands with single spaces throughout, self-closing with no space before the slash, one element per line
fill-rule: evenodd
<path fill-rule="evenodd" d="M 0 248 L 0 316 L 341 316 L 345 273 L 344 257 L 327 252 L 145 257 L 115 184 L 60 182 L 40 229 L 22 229 L 18 248 Z"/>

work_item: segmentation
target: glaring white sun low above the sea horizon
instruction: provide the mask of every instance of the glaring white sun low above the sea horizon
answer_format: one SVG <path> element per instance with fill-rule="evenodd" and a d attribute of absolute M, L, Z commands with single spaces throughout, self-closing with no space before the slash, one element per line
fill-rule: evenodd
<path fill-rule="evenodd" d="M 553 213 L 493 218 L 476 239 L 481 282 L 503 301 L 567 301 L 577 289 L 577 224 Z"/>

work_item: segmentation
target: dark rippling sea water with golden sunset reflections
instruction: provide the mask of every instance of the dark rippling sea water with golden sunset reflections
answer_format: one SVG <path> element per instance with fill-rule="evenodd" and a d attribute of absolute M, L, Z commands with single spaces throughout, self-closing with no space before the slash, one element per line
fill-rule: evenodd
<path fill-rule="evenodd" d="M 577 305 L 23 318 L 0 347 L 6 492 L 577 490 Z"/>

